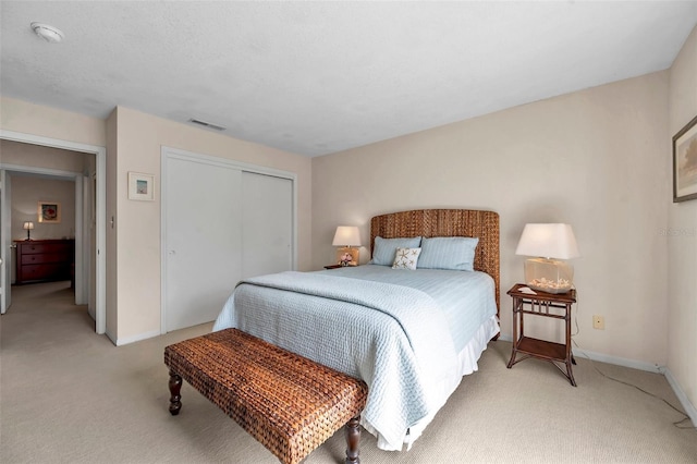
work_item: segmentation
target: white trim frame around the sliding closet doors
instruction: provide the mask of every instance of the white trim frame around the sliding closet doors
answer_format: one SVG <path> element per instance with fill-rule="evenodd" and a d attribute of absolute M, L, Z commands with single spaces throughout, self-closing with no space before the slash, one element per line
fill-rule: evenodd
<path fill-rule="evenodd" d="M 288 179 L 293 183 L 293 203 L 292 203 L 292 229 L 291 243 L 293 246 L 291 269 L 297 269 L 297 174 L 294 172 L 282 171 L 280 169 L 267 168 L 264 166 L 250 164 L 217 156 L 203 155 L 194 151 L 182 150 L 162 145 L 160 148 L 160 333 L 167 333 L 167 161 L 169 159 L 181 159 L 191 162 L 203 162 L 208 164 L 218 164 L 225 168 L 239 169 L 243 172 L 254 172 L 257 174 L 273 175 L 281 179 Z M 231 283 L 230 291 L 233 285 Z M 222 309 L 222 308 L 221 308 Z"/>

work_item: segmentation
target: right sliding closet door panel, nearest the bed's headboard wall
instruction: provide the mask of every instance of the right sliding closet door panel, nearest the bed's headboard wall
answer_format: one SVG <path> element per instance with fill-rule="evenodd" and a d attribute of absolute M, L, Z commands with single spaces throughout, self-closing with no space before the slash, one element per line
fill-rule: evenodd
<path fill-rule="evenodd" d="M 293 182 L 242 173 L 242 277 L 293 268 Z"/>

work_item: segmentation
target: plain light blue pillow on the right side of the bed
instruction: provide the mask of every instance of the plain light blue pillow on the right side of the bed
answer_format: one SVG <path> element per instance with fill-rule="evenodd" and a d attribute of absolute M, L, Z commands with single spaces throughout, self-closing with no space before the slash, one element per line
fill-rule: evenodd
<path fill-rule="evenodd" d="M 418 269 L 474 270 L 478 237 L 436 236 L 421 241 Z"/>

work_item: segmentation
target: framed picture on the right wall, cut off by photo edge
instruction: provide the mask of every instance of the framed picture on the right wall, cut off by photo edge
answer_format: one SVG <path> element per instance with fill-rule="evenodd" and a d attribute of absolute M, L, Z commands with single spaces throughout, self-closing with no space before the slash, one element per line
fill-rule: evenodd
<path fill-rule="evenodd" d="M 697 198 L 697 117 L 673 136 L 673 203 Z"/>

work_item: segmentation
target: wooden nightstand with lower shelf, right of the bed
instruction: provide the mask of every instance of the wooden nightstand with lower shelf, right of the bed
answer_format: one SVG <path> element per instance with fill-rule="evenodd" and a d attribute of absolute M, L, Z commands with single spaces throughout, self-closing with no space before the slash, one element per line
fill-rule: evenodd
<path fill-rule="evenodd" d="M 567 293 L 559 294 L 536 290 L 536 294 L 533 295 L 521 292 L 519 289 L 523 286 L 526 285 L 516 283 L 506 292 L 513 298 L 513 352 L 511 353 L 511 361 L 509 361 L 509 369 L 528 357 L 549 361 L 559 368 L 572 386 L 576 387 L 576 380 L 574 380 L 574 374 L 572 373 L 572 364 L 576 364 L 576 361 L 571 354 L 571 307 L 576 303 L 576 290 L 572 289 Z M 566 322 L 565 343 L 553 343 L 525 337 L 523 316 L 526 314 L 564 319 Z M 518 353 L 525 356 L 516 359 Z M 563 363 L 566 370 L 564 371 L 557 363 Z"/>

